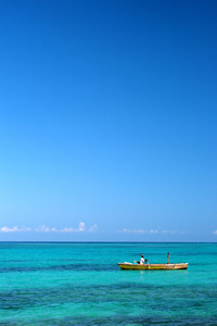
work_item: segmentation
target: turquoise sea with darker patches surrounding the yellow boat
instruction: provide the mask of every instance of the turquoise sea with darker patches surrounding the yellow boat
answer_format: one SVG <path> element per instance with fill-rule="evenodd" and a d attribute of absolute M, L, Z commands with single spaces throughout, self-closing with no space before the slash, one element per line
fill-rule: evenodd
<path fill-rule="evenodd" d="M 150 324 L 217 325 L 217 243 L 0 243 L 0 325 Z"/>

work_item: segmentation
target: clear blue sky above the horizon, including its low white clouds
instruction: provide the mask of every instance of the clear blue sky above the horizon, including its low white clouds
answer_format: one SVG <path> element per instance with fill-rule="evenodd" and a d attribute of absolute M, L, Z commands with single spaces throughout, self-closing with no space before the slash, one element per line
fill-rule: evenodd
<path fill-rule="evenodd" d="M 0 241 L 217 241 L 216 14 L 1 1 Z"/>

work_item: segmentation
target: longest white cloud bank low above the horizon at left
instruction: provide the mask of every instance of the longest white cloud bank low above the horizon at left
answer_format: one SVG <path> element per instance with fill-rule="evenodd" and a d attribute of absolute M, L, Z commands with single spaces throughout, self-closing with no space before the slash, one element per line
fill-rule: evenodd
<path fill-rule="evenodd" d="M 92 233 L 92 231 L 95 231 L 97 229 L 98 229 L 97 224 L 92 225 L 90 228 L 86 228 L 85 223 L 80 222 L 78 228 L 65 227 L 63 229 L 56 229 L 55 227 L 49 227 L 46 225 L 40 225 L 35 228 L 25 227 L 25 226 L 22 226 L 22 227 L 3 226 L 3 227 L 0 227 L 0 233 L 26 233 L 26 231 L 36 231 L 36 233 L 82 233 L 82 231 L 87 231 L 87 233 Z"/>

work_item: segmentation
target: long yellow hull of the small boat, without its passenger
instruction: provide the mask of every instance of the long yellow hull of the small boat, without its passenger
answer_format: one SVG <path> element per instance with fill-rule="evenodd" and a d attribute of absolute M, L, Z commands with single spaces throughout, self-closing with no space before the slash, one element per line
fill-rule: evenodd
<path fill-rule="evenodd" d="M 188 263 L 180 263 L 180 264 L 131 264 L 131 263 L 118 263 L 118 266 L 122 269 L 139 269 L 139 271 L 144 271 L 144 269 L 187 269 L 188 268 Z"/>

